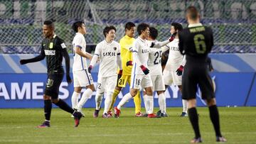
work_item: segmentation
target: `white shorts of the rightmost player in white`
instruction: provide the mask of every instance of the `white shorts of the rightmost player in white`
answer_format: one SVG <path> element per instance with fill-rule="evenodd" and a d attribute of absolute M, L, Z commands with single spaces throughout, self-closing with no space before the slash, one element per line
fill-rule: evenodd
<path fill-rule="evenodd" d="M 175 71 L 164 70 L 164 84 L 180 86 L 182 84 L 182 75 L 178 76 Z"/>

